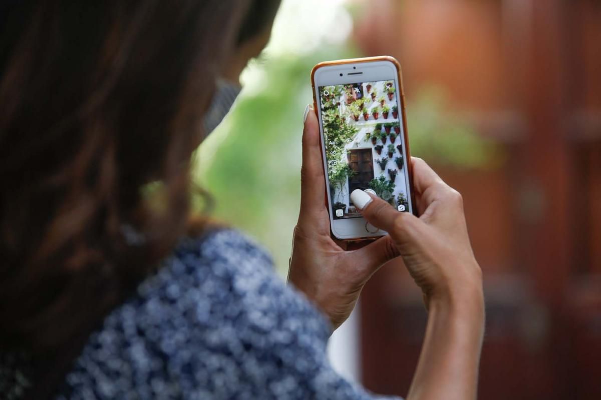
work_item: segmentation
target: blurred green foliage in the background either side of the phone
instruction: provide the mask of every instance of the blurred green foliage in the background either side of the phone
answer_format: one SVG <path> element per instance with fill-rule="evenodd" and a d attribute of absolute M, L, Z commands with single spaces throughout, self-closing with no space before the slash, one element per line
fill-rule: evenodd
<path fill-rule="evenodd" d="M 194 179 L 215 199 L 212 216 L 266 246 L 282 276 L 301 199 L 302 113 L 313 103 L 310 71 L 317 62 L 355 56 L 349 46 L 331 46 L 254 62 L 252 87 L 196 153 Z M 425 88 L 408 102 L 412 154 L 456 168 L 486 168 L 495 158 L 468 123 L 445 114 L 439 89 Z"/>

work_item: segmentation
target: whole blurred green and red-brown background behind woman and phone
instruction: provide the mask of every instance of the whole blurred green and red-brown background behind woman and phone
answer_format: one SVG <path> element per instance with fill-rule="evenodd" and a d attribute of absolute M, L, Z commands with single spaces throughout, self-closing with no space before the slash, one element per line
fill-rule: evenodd
<path fill-rule="evenodd" d="M 600 399 L 599 1 L 283 0 L 197 152 L 213 216 L 267 247 L 285 279 L 311 67 L 373 55 L 403 66 L 412 154 L 463 194 L 487 306 L 480 398 Z M 425 324 L 406 271 L 385 265 L 332 362 L 406 395 Z"/>

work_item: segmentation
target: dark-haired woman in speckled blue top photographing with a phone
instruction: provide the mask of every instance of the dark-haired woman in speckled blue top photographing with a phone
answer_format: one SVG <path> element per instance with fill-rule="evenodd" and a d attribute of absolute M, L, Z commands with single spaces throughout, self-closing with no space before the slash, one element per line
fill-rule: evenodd
<path fill-rule="evenodd" d="M 374 398 L 332 371 L 325 346 L 389 259 L 429 308 L 408 398 L 474 398 L 480 269 L 460 196 L 423 161 L 413 160 L 421 217 L 353 193 L 390 236 L 344 251 L 329 237 L 319 130 L 305 112 L 298 291 L 252 241 L 190 222 L 189 158 L 266 2 L 249 3 L 3 4 L 4 398 Z"/>

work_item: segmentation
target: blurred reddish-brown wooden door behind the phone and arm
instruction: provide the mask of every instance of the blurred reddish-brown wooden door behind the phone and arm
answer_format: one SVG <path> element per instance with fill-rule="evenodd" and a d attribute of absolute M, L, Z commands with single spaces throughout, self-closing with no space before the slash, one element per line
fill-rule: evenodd
<path fill-rule="evenodd" d="M 601 3 L 367 4 L 358 42 L 401 61 L 407 114 L 434 83 L 506 154 L 480 171 L 427 160 L 462 192 L 484 271 L 480 398 L 601 399 Z M 361 319 L 365 385 L 406 394 L 426 312 L 405 271 L 373 277 Z"/>

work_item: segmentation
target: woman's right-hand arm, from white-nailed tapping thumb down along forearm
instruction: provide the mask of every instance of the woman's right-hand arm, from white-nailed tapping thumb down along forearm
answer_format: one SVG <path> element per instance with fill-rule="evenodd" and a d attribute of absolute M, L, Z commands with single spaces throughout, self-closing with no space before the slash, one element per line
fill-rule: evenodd
<path fill-rule="evenodd" d="M 351 200 L 365 219 L 389 233 L 429 310 L 407 400 L 475 399 L 484 296 L 463 200 L 423 160 L 413 158 L 412 166 L 419 218 L 362 190 Z"/>

